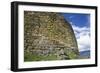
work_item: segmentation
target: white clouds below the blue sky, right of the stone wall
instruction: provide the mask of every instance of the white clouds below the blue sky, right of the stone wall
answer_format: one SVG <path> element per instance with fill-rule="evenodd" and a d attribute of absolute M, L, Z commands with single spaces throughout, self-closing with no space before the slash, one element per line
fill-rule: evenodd
<path fill-rule="evenodd" d="M 88 27 L 78 27 L 72 25 L 79 51 L 85 51 L 90 49 L 90 28 Z"/>

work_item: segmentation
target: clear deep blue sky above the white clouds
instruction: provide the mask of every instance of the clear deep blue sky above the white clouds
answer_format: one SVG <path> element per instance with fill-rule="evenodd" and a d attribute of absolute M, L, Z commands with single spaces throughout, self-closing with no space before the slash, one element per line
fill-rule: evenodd
<path fill-rule="evenodd" d="M 62 15 L 67 21 L 72 22 L 76 26 L 79 26 L 79 27 L 90 26 L 89 14 L 63 13 Z"/>

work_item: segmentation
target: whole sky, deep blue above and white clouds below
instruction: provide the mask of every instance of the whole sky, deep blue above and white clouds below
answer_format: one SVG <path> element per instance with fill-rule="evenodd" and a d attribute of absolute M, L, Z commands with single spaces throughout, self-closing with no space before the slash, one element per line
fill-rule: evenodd
<path fill-rule="evenodd" d="M 79 51 L 90 50 L 90 15 L 77 13 L 62 13 L 73 27 Z"/>

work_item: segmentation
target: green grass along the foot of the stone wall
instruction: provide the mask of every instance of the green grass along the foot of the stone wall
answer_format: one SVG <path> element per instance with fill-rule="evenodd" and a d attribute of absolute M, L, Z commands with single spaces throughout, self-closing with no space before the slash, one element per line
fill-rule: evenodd
<path fill-rule="evenodd" d="M 68 56 L 68 59 L 77 59 L 77 55 L 74 51 L 64 49 L 65 54 Z M 38 54 L 32 54 L 31 52 L 24 52 L 24 61 L 50 61 L 50 60 L 60 60 L 59 57 L 55 55 L 55 53 L 48 54 L 48 55 L 38 55 Z"/>

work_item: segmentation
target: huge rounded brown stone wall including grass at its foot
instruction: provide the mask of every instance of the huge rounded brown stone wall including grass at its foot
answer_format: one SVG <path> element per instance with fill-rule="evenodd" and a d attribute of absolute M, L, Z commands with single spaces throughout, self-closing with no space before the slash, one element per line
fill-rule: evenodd
<path fill-rule="evenodd" d="M 78 55 L 73 29 L 61 14 L 24 11 L 24 61 L 68 60 Z"/>

